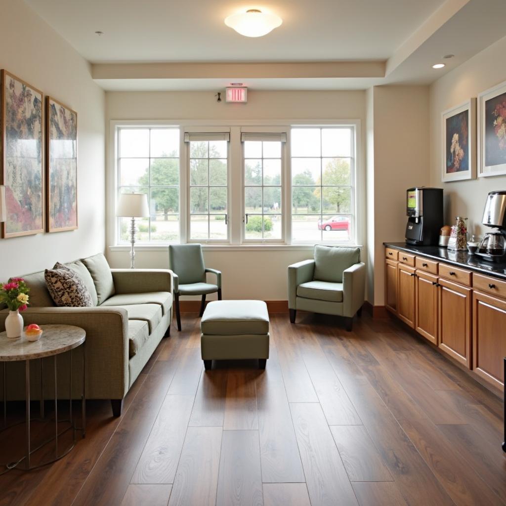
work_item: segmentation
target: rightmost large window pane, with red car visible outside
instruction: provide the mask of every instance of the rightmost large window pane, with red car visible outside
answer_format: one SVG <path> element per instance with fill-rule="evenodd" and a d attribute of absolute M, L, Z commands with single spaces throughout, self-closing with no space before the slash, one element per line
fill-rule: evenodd
<path fill-rule="evenodd" d="M 291 130 L 291 238 L 354 240 L 354 128 Z"/>

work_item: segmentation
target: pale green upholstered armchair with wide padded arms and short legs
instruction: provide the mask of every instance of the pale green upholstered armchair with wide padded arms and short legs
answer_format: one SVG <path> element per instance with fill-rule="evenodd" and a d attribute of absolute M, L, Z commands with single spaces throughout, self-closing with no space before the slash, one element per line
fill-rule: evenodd
<path fill-rule="evenodd" d="M 295 323 L 297 310 L 338 315 L 351 331 L 353 317 L 362 313 L 365 296 L 365 264 L 360 248 L 321 246 L 314 260 L 288 266 L 288 308 Z"/>

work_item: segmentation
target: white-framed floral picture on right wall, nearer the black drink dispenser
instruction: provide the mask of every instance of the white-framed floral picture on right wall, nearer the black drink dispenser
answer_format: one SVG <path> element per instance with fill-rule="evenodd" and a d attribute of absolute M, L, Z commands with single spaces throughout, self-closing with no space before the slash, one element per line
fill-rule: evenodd
<path fill-rule="evenodd" d="M 442 181 L 476 178 L 476 99 L 442 113 Z"/>

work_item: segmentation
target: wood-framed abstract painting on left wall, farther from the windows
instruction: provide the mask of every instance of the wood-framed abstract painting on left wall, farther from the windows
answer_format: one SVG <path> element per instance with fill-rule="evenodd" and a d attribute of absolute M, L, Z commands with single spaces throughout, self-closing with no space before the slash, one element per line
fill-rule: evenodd
<path fill-rule="evenodd" d="M 2 237 L 44 232 L 43 93 L 6 70 L 0 71 L 1 184 L 6 186 L 7 221 Z"/>

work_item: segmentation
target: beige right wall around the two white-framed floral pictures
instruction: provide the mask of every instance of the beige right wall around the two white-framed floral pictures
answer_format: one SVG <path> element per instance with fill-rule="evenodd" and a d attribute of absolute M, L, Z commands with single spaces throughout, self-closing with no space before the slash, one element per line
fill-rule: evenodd
<path fill-rule="evenodd" d="M 441 112 L 506 80 L 505 53 L 506 37 L 437 80 L 430 88 L 430 182 L 432 186 L 444 188 L 446 223 L 453 224 L 455 216 L 467 216 L 469 231 L 476 234 L 483 234 L 487 228 L 481 225 L 487 193 L 506 189 L 506 176 L 442 183 Z"/>

